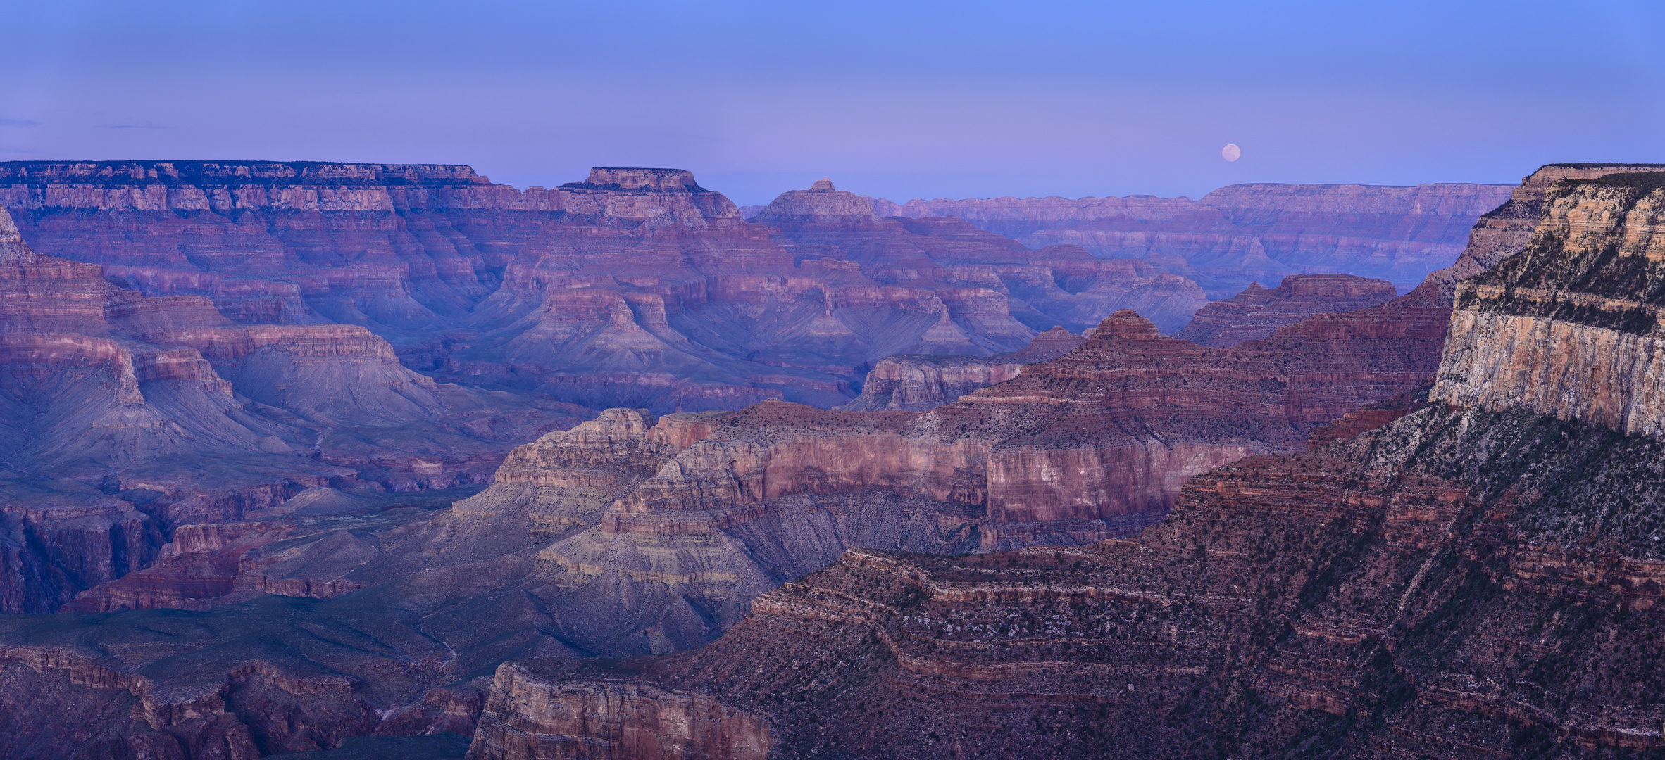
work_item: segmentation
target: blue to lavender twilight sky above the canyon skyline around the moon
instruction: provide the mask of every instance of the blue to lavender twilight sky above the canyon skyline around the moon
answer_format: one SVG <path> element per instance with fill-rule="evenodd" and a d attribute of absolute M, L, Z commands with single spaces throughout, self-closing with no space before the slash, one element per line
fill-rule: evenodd
<path fill-rule="evenodd" d="M 0 0 L 0 25 L 5 161 L 676 166 L 743 205 L 823 175 L 902 201 L 1665 161 L 1657 0 Z"/>

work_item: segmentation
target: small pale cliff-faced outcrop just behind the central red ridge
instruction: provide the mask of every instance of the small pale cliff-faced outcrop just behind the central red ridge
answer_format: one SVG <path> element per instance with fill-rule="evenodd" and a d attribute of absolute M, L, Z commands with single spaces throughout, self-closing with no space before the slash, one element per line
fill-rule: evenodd
<path fill-rule="evenodd" d="M 1084 338 L 1054 326 L 1036 336 L 1029 346 L 994 356 L 886 356 L 867 371 L 861 396 L 842 411 L 869 412 L 884 409 L 927 411 L 996 382 L 1017 378 L 1024 364 L 1057 359 L 1081 346 Z"/>

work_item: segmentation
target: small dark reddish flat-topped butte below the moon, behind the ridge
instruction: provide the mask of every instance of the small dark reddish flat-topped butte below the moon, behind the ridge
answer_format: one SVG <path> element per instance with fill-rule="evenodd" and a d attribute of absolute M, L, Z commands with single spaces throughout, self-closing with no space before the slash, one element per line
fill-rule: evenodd
<path fill-rule="evenodd" d="M 1235 346 L 1270 338 L 1277 328 L 1314 314 L 1380 306 L 1397 294 L 1394 284 L 1385 279 L 1290 274 L 1277 288 L 1267 289 L 1259 283 L 1249 283 L 1247 289 L 1225 301 L 1210 301 L 1197 309 L 1190 324 L 1174 333 L 1174 338 L 1199 346 Z"/>

